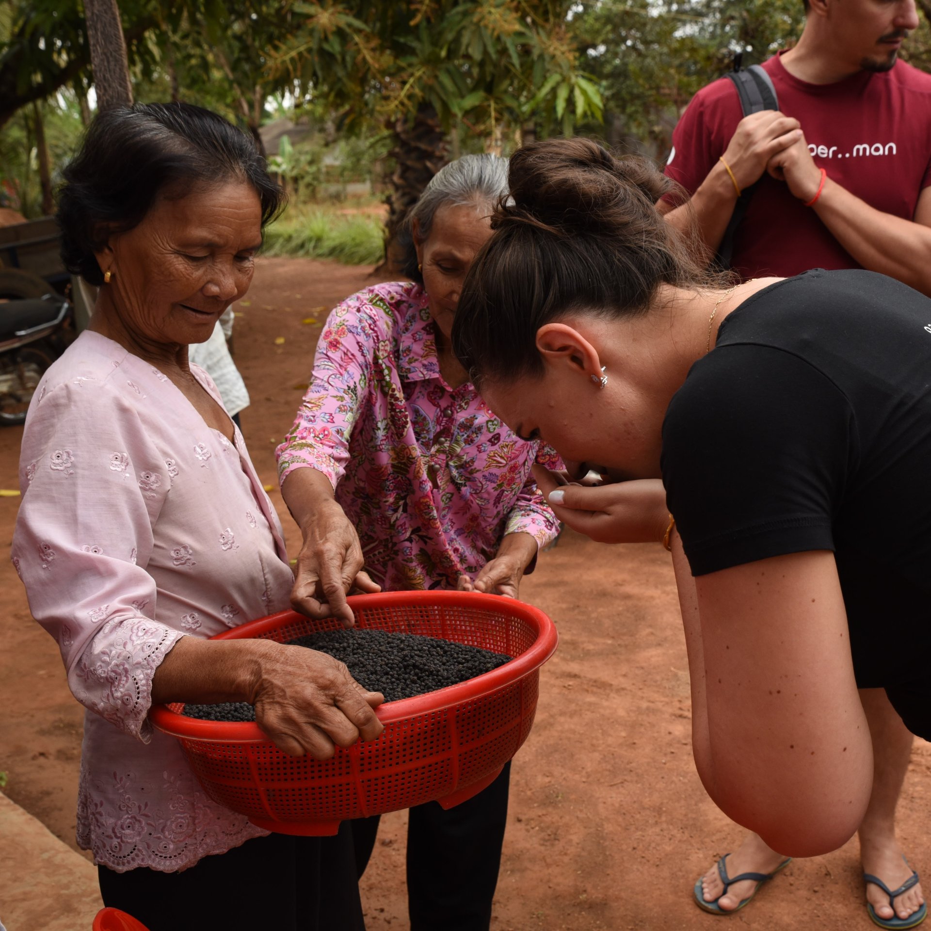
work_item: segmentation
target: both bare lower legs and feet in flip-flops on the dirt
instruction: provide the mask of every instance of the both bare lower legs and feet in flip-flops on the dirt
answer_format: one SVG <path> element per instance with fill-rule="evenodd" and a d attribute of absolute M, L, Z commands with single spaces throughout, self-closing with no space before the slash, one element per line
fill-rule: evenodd
<path fill-rule="evenodd" d="M 902 859 L 896 840 L 896 805 L 902 781 L 909 766 L 912 736 L 889 704 L 884 689 L 860 689 L 860 701 L 870 723 L 873 745 L 873 788 L 870 806 L 859 828 L 860 857 L 863 871 L 878 876 L 890 889 L 896 889 L 909 876 L 911 869 Z M 742 872 L 768 873 L 776 869 L 785 857 L 762 842 L 758 834 L 748 834 L 744 842 L 727 857 L 731 876 Z M 724 911 L 732 911 L 742 899 L 749 897 L 757 884 L 751 880 L 736 883 L 718 903 Z M 702 878 L 705 901 L 722 896 L 724 886 L 716 867 Z M 880 918 L 907 918 L 921 907 L 924 896 L 921 884 L 896 899 L 895 912 L 879 886 L 867 886 L 867 900 Z"/>

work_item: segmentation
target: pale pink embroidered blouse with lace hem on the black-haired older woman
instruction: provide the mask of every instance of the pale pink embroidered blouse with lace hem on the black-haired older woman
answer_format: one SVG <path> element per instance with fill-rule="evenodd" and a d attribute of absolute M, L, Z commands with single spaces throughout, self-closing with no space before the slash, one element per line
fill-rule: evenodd
<path fill-rule="evenodd" d="M 88 331 L 34 397 L 20 485 L 13 562 L 88 708 L 78 843 L 113 870 L 170 871 L 265 833 L 211 802 L 146 717 L 180 637 L 288 606 L 281 526 L 239 431 L 231 443 L 166 375 Z"/>

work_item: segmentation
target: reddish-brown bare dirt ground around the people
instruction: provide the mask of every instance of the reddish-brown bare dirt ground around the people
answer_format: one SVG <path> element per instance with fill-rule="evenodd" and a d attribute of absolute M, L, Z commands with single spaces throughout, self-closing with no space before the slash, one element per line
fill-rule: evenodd
<path fill-rule="evenodd" d="M 302 259 L 260 263 L 236 308 L 236 361 L 249 387 L 243 425 L 263 480 L 306 383 L 331 306 L 374 279 L 368 269 Z M 283 336 L 284 344 L 277 345 Z M 0 433 L 0 488 L 17 488 L 20 429 Z M 281 512 L 296 551 L 298 536 Z M 0 541 L 18 499 L 0 497 Z M 523 587 L 560 628 L 540 705 L 516 758 L 494 931 L 708 929 L 721 919 L 691 901 L 695 877 L 735 845 L 735 828 L 708 801 L 689 746 L 689 692 L 668 555 L 656 546 L 599 546 L 565 533 Z M 74 845 L 82 709 L 55 644 L 30 618 L 0 561 L 0 770 L 7 793 Z M 927 779 L 931 745 L 916 742 L 899 809 L 911 863 L 931 878 Z M 363 881 L 369 931 L 407 928 L 403 814 L 386 816 Z M 857 843 L 797 860 L 732 924 L 765 931 L 871 927 Z M 15 929 L 11 929 L 15 931 Z M 75 929 L 76 931 L 76 929 Z"/>

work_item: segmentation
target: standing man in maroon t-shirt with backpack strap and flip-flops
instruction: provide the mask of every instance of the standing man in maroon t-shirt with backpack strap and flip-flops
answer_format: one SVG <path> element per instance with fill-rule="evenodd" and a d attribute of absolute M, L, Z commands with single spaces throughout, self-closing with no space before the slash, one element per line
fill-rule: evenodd
<path fill-rule="evenodd" d="M 659 209 L 680 227 L 694 217 L 714 253 L 739 191 L 759 180 L 735 231 L 738 275 L 863 267 L 931 295 L 931 76 L 897 61 L 918 25 L 914 0 L 805 0 L 805 8 L 798 45 L 763 64 L 779 111 L 742 118 L 726 78 L 699 91 L 673 133 L 666 167 L 690 204 L 670 198 Z M 896 890 L 911 877 L 895 833 L 911 734 L 883 690 L 861 697 L 875 761 L 861 858 L 864 872 Z M 782 859 L 753 834 L 724 865 L 728 877 L 768 874 Z M 715 904 L 733 911 L 758 886 L 745 880 L 725 889 L 715 866 L 695 897 L 711 911 Z M 924 918 L 920 885 L 892 908 L 878 885 L 866 889 L 877 924 L 911 927 Z M 908 922 L 895 924 L 902 919 Z"/>

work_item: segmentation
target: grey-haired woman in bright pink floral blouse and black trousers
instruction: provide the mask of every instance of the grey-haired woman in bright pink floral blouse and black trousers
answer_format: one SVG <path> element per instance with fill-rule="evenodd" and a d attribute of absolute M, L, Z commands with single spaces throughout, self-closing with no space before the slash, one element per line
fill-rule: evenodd
<path fill-rule="evenodd" d="M 465 588 L 516 598 L 558 523 L 537 491 L 537 444 L 485 406 L 450 348 L 459 290 L 506 193 L 506 160 L 440 170 L 407 222 L 411 282 L 336 307 L 277 450 L 282 493 L 304 533 L 292 604 L 351 623 L 350 587 Z M 412 931 L 487 929 L 508 771 L 470 802 L 410 813 Z M 378 819 L 354 822 L 359 872 Z"/>

